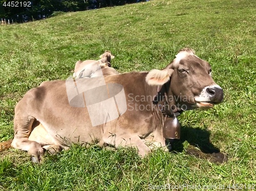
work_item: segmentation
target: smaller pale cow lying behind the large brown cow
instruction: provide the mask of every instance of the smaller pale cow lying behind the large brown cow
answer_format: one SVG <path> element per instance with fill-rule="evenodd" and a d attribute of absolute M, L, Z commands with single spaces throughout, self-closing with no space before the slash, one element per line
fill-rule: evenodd
<path fill-rule="evenodd" d="M 111 76 L 119 74 L 111 67 L 111 59 L 115 58 L 109 51 L 100 55 L 100 60 L 78 60 L 75 65 L 73 77 L 91 78 L 96 76 Z"/>

